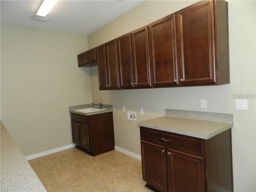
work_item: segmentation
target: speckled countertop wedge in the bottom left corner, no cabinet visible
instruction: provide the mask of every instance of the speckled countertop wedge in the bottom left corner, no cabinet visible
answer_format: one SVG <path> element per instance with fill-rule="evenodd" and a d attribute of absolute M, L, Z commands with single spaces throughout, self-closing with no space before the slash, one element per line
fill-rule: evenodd
<path fill-rule="evenodd" d="M 1 192 L 46 192 L 1 122 Z"/>

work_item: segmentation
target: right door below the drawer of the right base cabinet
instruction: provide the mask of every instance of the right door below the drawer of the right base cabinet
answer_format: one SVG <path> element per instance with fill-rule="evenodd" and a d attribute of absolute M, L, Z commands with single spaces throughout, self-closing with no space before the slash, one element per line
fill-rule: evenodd
<path fill-rule="evenodd" d="M 168 149 L 169 191 L 204 192 L 204 158 Z"/>

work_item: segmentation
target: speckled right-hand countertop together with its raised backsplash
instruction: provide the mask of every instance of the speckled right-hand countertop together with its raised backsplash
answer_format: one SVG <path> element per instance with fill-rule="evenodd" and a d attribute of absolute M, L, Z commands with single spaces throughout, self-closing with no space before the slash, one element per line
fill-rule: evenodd
<path fill-rule="evenodd" d="M 175 115 L 176 112 L 179 115 Z M 218 117 L 223 117 L 220 113 L 203 113 L 200 115 L 200 112 L 182 110 L 172 110 L 170 112 L 166 110 L 166 116 L 139 122 L 137 125 L 202 139 L 209 139 L 233 127 L 233 122 L 230 122 L 233 120 L 232 114 L 223 114 L 224 116 L 230 115 L 228 117 L 232 116 L 228 122 L 218 122 Z M 195 116 L 196 118 L 193 118 Z M 207 117 L 211 120 L 208 120 Z"/>

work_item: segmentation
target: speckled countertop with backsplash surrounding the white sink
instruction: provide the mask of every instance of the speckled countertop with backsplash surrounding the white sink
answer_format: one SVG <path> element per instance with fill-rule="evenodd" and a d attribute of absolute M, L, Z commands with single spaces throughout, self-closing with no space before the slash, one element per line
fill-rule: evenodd
<path fill-rule="evenodd" d="M 92 103 L 92 105 L 91 104 L 83 104 L 83 105 L 69 106 L 68 109 L 69 109 L 70 113 L 75 113 L 75 114 L 85 115 L 85 116 L 113 112 L 112 105 L 105 105 L 105 104 L 102 104 L 102 106 L 103 106 L 103 108 L 106 108 L 106 110 L 99 110 L 96 112 L 88 112 L 88 113 L 74 111 L 74 110 L 79 110 L 79 109 L 92 108 L 92 107 L 94 107 L 94 105 L 99 106 L 99 104 Z"/>

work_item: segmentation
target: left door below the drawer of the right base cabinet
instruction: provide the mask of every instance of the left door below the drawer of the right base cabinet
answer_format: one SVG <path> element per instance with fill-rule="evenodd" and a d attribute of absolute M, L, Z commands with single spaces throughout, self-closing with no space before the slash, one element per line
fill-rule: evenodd
<path fill-rule="evenodd" d="M 165 147 L 141 141 L 142 176 L 151 187 L 167 191 Z"/>

